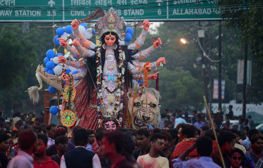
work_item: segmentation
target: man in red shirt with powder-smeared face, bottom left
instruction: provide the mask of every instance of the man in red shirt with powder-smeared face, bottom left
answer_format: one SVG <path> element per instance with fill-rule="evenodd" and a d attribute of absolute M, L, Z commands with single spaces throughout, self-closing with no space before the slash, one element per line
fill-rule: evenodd
<path fill-rule="evenodd" d="M 59 168 L 58 164 L 46 156 L 48 138 L 45 134 L 37 134 L 37 150 L 34 152 L 34 168 Z"/>

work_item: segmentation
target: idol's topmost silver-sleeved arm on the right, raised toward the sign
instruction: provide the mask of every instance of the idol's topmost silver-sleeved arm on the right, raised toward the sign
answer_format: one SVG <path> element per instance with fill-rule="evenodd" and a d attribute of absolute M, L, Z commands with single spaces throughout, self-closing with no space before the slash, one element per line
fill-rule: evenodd
<path fill-rule="evenodd" d="M 147 32 L 150 27 L 150 22 L 148 20 L 145 20 L 143 21 L 143 23 L 144 23 L 143 30 L 141 31 L 141 34 L 139 35 L 139 37 L 136 38 L 134 43 L 131 43 L 127 46 L 129 50 L 137 50 L 141 48 L 141 46 L 143 45 Z"/>

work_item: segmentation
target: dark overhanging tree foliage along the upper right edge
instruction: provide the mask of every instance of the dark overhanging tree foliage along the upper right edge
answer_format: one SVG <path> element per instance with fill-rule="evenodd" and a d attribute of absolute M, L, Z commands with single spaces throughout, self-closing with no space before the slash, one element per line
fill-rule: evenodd
<path fill-rule="evenodd" d="M 262 8 L 258 7 L 262 5 L 262 0 L 220 0 L 218 5 L 223 6 L 221 17 L 225 25 L 228 28 L 238 28 L 241 48 L 244 43 L 248 43 L 252 60 L 252 85 L 247 88 L 248 98 L 259 103 L 263 99 L 262 85 L 259 85 L 263 82 L 263 19 Z"/>

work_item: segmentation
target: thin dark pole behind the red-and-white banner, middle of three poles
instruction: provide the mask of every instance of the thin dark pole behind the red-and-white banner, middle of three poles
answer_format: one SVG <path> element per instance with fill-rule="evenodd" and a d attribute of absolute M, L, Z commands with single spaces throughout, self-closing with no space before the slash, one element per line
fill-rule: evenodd
<path fill-rule="evenodd" d="M 219 21 L 219 36 L 218 36 L 218 60 L 219 64 L 218 64 L 218 108 L 220 108 L 222 110 L 222 82 L 221 82 L 221 68 L 222 68 L 222 62 L 221 62 L 221 58 L 222 58 L 222 44 L 221 44 L 221 34 L 222 34 L 222 26 L 221 26 L 221 21 Z"/>

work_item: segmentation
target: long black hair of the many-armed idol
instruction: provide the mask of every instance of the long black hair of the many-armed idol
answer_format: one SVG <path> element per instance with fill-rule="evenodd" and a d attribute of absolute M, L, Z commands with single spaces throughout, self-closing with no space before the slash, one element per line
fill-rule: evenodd
<path fill-rule="evenodd" d="M 109 35 L 110 32 L 106 32 L 102 35 L 101 37 L 101 42 L 102 42 L 102 45 L 105 43 L 105 36 L 106 35 Z M 119 38 L 118 38 L 118 35 L 114 32 L 111 32 L 111 35 L 115 36 L 116 37 L 116 40 L 115 40 L 115 44 L 117 44 L 117 49 L 114 50 L 114 55 L 115 55 L 115 59 L 116 59 L 116 62 L 117 62 L 117 66 L 118 66 L 118 63 L 119 63 L 119 48 L 120 48 L 120 45 L 119 45 Z M 93 50 L 94 52 L 96 52 L 98 49 L 98 47 L 95 47 L 94 49 L 91 49 Z M 129 73 L 129 70 L 128 70 L 128 62 L 130 62 L 131 64 L 133 64 L 131 62 L 132 60 L 132 55 L 136 54 L 138 52 L 138 50 L 136 50 L 136 52 L 134 52 L 133 50 L 129 50 L 127 48 L 126 45 L 122 46 L 122 49 L 124 50 L 125 52 L 125 71 L 124 71 L 124 80 L 125 80 L 125 83 L 124 85 L 126 87 L 131 87 L 132 88 L 132 82 L 131 82 L 131 74 Z M 104 67 L 104 63 L 105 63 L 105 49 L 103 49 L 103 47 L 100 47 L 100 52 L 101 52 L 101 67 L 103 68 Z M 96 81 L 97 81 L 97 78 L 96 78 L 96 75 L 97 75 L 97 71 L 96 71 L 96 54 L 93 56 L 93 57 L 87 57 L 87 64 L 86 66 L 89 67 L 89 70 L 90 70 L 90 73 L 91 75 L 89 74 L 89 72 L 86 73 L 86 76 L 85 76 L 85 79 L 86 79 L 86 82 L 87 82 L 87 86 L 88 86 L 88 103 L 90 102 L 90 97 L 91 97 L 91 91 L 94 89 L 94 84 L 92 82 L 92 79 L 94 81 L 94 83 L 96 84 Z M 91 79 L 92 77 L 92 79 Z M 92 94 L 95 94 L 95 93 L 92 93 Z"/>

